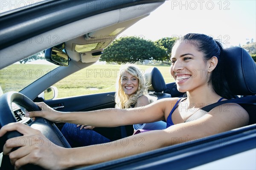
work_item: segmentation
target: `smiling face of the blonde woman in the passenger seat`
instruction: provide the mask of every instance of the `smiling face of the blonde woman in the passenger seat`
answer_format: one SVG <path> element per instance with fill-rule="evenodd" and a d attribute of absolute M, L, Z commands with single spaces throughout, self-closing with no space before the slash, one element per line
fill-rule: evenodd
<path fill-rule="evenodd" d="M 129 72 L 123 71 L 121 74 L 121 86 L 125 94 L 130 97 L 137 91 L 139 87 L 139 79 Z"/>

